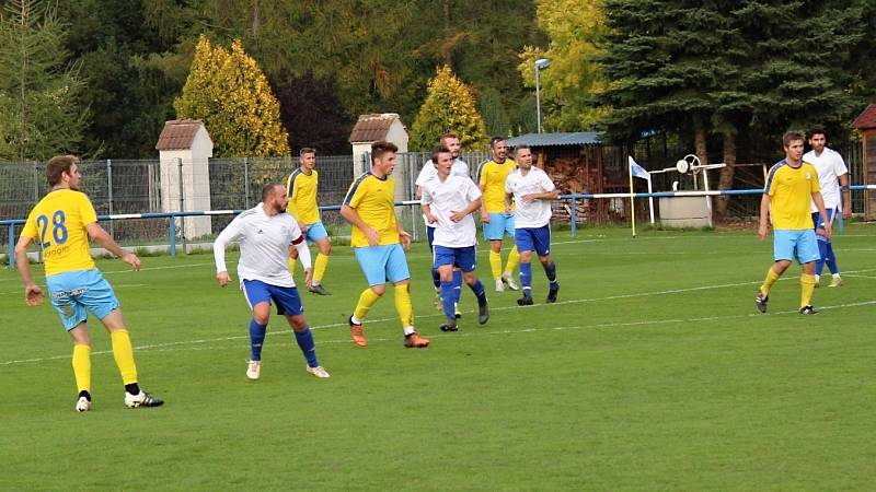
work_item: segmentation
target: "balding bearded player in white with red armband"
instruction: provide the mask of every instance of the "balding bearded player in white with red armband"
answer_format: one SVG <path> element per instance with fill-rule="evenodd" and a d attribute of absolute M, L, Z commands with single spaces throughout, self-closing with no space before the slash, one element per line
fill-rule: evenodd
<path fill-rule="evenodd" d="M 287 263 L 289 249 L 295 246 L 304 266 L 306 282 L 311 282 L 310 250 L 295 218 L 286 212 L 288 202 L 286 188 L 279 183 L 268 183 L 262 188 L 262 202 L 234 218 L 214 243 L 216 280 L 220 286 L 226 286 L 229 281 L 226 245 L 240 242 L 238 277 L 243 296 L 253 312 L 250 321 L 250 362 L 246 366 L 246 377 L 252 380 L 258 379 L 262 374 L 262 344 L 267 333 L 272 302 L 277 305 L 277 314 L 286 316 L 292 328 L 298 347 L 307 360 L 308 373 L 328 377 L 316 360 L 313 333 L 304 319 L 301 297 Z"/>

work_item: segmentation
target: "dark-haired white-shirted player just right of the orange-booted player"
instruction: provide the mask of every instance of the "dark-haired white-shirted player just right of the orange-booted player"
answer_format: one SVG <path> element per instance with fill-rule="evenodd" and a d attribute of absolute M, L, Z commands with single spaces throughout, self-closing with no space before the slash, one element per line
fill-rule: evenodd
<path fill-rule="evenodd" d="M 441 279 L 441 304 L 447 321 L 442 331 L 457 331 L 453 271 L 462 271 L 465 283 L 477 297 L 479 321 L 489 319 L 484 284 L 474 274 L 477 229 L 472 213 L 481 208 L 481 190 L 468 176 L 452 174 L 453 156 L 439 145 L 431 153 L 436 178 L 423 184 L 420 208 L 429 224 L 435 227 L 433 242 L 434 268 Z"/>

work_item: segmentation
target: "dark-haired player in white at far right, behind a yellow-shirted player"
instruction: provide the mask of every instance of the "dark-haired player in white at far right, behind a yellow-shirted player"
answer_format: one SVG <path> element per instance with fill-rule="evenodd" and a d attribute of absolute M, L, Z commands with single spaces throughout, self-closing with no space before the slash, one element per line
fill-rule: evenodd
<path fill-rule="evenodd" d="M 849 189 L 849 168 L 845 167 L 842 155 L 826 144 L 827 133 L 823 128 L 809 130 L 809 145 L 812 150 L 803 155 L 803 161 L 814 165 L 818 171 L 818 184 L 821 185 L 825 210 L 828 212 L 828 221 L 833 225 L 833 219 L 838 213 L 842 213 L 843 219 L 852 216 L 852 191 Z M 842 189 L 842 196 L 840 196 L 840 189 Z M 827 263 L 833 277 L 828 286 L 840 286 L 842 279 L 840 278 L 840 267 L 837 265 L 837 255 L 833 253 L 833 244 L 831 238 L 825 234 L 825 223 L 821 222 L 821 215 L 814 201 L 809 204 L 809 211 L 812 212 L 818 250 L 821 255 L 821 259 L 815 265 L 815 284 L 818 286 L 821 270 Z"/>

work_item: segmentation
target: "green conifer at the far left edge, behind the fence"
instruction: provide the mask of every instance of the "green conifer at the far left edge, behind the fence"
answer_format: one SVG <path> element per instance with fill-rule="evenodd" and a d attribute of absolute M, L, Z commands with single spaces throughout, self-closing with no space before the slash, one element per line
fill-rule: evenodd
<path fill-rule="evenodd" d="M 10 0 L 0 16 L 0 159 L 46 160 L 82 151 L 89 110 L 79 63 L 67 62 L 57 9 Z"/>

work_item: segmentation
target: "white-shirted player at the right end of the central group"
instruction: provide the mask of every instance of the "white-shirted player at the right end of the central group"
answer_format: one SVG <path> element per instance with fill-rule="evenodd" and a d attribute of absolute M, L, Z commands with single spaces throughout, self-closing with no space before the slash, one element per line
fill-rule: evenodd
<path fill-rule="evenodd" d="M 510 202 L 514 198 L 517 203 L 514 239 L 520 251 L 520 283 L 523 288 L 523 296 L 517 300 L 517 304 L 532 305 L 532 251 L 539 256 L 550 282 L 546 302 L 554 303 L 560 283 L 556 281 L 556 263 L 550 255 L 551 200 L 556 200 L 560 192 L 548 173 L 532 166 L 529 145 L 518 145 L 514 154 L 517 169 L 505 180 L 505 200 Z"/>

